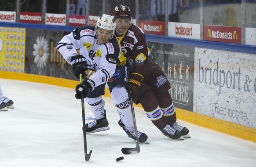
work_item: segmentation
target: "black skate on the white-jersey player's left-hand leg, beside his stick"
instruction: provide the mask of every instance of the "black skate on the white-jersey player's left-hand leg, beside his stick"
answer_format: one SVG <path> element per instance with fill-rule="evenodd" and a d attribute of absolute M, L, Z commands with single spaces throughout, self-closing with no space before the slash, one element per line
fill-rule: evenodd
<path fill-rule="evenodd" d="M 110 127 L 108 120 L 106 119 L 106 110 L 104 109 L 103 113 L 104 117 L 97 120 L 94 118 L 94 120 L 90 123 L 86 123 L 86 133 L 95 133 L 99 131 L 106 131 L 109 130 Z"/>

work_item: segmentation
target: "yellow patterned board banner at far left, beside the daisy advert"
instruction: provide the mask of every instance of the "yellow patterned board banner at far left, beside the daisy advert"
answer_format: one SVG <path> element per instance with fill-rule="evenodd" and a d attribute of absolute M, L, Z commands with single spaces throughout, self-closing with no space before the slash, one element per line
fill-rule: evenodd
<path fill-rule="evenodd" d="M 26 29 L 0 27 L 0 71 L 24 73 Z"/>

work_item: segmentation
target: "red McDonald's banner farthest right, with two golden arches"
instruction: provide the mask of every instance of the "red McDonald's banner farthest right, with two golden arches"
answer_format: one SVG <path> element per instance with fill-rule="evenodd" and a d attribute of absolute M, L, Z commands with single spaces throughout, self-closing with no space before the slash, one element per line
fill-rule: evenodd
<path fill-rule="evenodd" d="M 241 44 L 241 27 L 204 25 L 204 40 Z"/>

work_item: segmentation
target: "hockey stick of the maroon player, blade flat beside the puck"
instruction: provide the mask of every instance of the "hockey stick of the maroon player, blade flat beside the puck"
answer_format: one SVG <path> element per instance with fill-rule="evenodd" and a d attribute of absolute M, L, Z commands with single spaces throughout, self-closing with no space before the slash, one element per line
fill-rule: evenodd
<path fill-rule="evenodd" d="M 135 120 L 135 113 L 134 113 L 134 108 L 133 108 L 133 103 L 132 103 L 132 98 L 129 96 L 129 101 L 131 105 L 131 110 L 132 110 L 132 119 L 133 119 L 133 126 L 135 130 L 135 138 L 136 138 L 136 147 L 135 148 L 122 148 L 121 151 L 123 154 L 136 154 L 139 153 L 139 138 L 138 138 L 138 131 L 137 131 L 137 125 L 136 125 L 136 120 Z"/>

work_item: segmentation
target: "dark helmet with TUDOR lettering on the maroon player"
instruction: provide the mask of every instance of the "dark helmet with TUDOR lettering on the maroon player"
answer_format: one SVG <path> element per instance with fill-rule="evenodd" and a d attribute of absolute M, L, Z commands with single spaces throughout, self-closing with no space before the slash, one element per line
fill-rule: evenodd
<path fill-rule="evenodd" d="M 113 11 L 113 16 L 115 18 L 130 18 L 132 20 L 131 10 L 125 5 L 117 5 Z"/>

